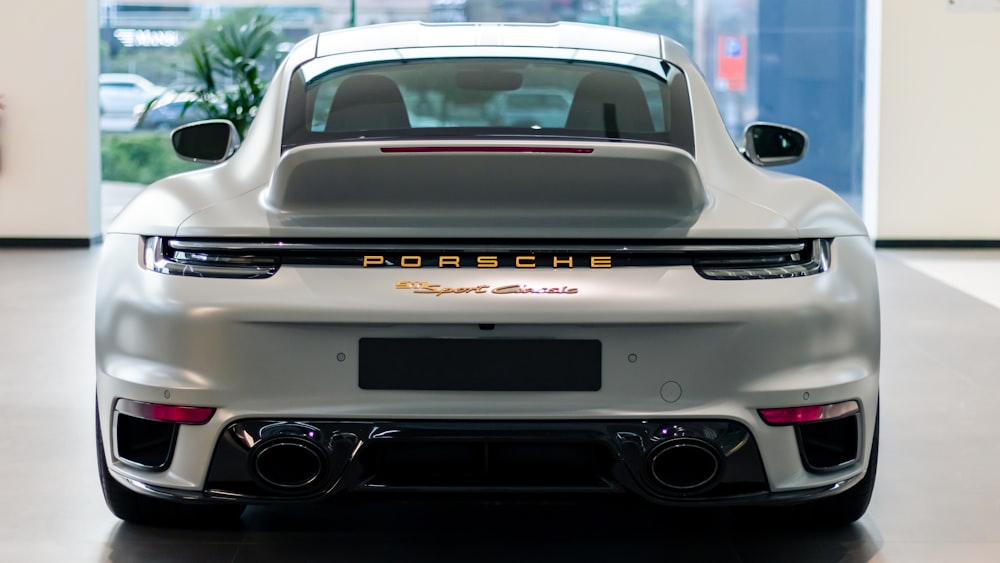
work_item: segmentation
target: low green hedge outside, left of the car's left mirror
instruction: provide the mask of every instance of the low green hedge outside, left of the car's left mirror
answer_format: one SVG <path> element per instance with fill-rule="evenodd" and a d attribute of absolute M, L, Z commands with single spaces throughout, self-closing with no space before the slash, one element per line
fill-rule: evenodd
<path fill-rule="evenodd" d="M 151 184 L 165 176 L 201 167 L 177 158 L 170 139 L 163 133 L 101 135 L 101 169 L 105 180 Z"/>

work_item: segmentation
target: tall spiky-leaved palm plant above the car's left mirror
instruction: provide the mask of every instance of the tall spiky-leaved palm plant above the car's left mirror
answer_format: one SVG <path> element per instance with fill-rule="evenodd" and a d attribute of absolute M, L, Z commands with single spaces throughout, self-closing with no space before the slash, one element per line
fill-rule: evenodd
<path fill-rule="evenodd" d="M 272 16 L 238 11 L 193 33 L 186 41 L 193 66 L 185 74 L 194 86 L 181 92 L 191 98 L 185 107 L 232 121 L 244 137 L 267 89 L 263 68 L 274 60 L 278 42 L 273 27 Z"/>

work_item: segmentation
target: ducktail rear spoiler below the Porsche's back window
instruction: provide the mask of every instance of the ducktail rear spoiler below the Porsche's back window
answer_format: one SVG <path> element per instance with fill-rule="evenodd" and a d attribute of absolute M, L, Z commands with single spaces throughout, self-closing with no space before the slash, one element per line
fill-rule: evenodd
<path fill-rule="evenodd" d="M 675 227 L 706 204 L 691 156 L 630 142 L 339 142 L 285 153 L 264 195 L 310 223 Z"/>

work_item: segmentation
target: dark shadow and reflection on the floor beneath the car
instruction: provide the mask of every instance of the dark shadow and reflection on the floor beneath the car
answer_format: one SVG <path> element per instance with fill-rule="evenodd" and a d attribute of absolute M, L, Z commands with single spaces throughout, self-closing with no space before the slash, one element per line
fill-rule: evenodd
<path fill-rule="evenodd" d="M 863 521 L 864 522 L 864 521 Z M 869 522 L 811 530 L 760 511 L 617 502 L 350 500 L 254 507 L 230 530 L 122 524 L 110 561 L 867 562 Z"/>

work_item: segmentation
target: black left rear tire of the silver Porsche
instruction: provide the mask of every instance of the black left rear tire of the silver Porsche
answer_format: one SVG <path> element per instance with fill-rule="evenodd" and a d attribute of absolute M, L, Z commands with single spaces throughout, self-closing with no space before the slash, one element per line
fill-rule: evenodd
<path fill-rule="evenodd" d="M 231 527 L 246 508 L 242 504 L 183 504 L 148 497 L 122 485 L 108 469 L 101 437 L 101 420 L 97 417 L 97 465 L 104 491 L 104 502 L 115 516 L 126 522 L 167 528 Z"/>

